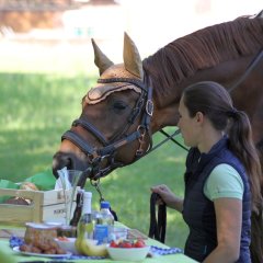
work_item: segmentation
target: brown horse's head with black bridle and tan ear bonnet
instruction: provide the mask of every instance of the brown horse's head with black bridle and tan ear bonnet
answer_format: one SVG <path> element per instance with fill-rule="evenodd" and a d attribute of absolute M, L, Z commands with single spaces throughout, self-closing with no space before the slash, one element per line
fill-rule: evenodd
<path fill-rule="evenodd" d="M 151 146 L 151 88 L 144 76 L 139 53 L 125 34 L 124 64 L 114 65 L 92 41 L 98 85 L 82 99 L 82 113 L 62 135 L 53 170 L 67 167 L 100 179 L 136 161 Z"/>

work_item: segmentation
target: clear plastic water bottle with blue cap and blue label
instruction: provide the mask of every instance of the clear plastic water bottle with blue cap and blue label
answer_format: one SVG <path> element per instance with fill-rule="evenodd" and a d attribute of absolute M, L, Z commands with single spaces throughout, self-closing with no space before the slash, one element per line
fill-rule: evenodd
<path fill-rule="evenodd" d="M 94 239 L 98 243 L 107 243 L 111 241 L 112 231 L 114 228 L 114 217 L 110 210 L 110 203 L 101 202 L 101 209 L 96 216 L 96 225 L 94 230 Z"/>

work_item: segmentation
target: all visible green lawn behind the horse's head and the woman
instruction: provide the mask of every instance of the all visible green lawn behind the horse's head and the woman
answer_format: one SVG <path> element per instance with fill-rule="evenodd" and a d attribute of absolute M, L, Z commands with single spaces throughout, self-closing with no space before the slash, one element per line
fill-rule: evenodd
<path fill-rule="evenodd" d="M 50 168 L 61 134 L 80 115 L 81 99 L 94 81 L 83 75 L 0 73 L 1 179 L 20 182 Z M 156 135 L 155 141 L 161 138 Z M 182 195 L 185 156 L 168 142 L 101 181 L 103 196 L 122 222 L 148 235 L 150 186 L 165 183 Z M 87 188 L 99 208 L 98 193 L 89 183 Z M 169 209 L 167 243 L 183 248 L 186 233 L 181 215 Z"/>

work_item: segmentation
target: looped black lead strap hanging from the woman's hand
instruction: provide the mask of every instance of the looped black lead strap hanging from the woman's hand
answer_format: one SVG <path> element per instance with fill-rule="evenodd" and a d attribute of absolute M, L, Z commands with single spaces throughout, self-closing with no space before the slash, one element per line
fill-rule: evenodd
<path fill-rule="evenodd" d="M 167 205 L 165 203 L 158 205 L 158 217 L 156 217 L 156 204 L 158 199 L 161 199 L 161 196 L 152 193 L 150 197 L 150 229 L 148 237 L 164 243 L 167 232 Z"/>

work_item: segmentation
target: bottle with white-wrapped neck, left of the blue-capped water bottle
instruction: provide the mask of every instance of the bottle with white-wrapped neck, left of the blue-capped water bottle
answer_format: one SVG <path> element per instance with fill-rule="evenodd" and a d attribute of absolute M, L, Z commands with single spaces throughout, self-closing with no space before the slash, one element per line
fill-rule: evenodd
<path fill-rule="evenodd" d="M 92 198 L 92 193 L 84 192 L 81 217 L 77 227 L 78 237 L 81 236 L 87 239 L 93 239 L 93 230 L 94 230 L 93 216 L 91 213 L 91 198 Z"/>

